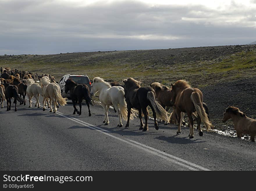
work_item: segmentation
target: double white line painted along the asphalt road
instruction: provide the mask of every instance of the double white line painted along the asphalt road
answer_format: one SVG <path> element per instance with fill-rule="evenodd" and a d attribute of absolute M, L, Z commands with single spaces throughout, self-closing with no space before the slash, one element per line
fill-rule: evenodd
<path fill-rule="evenodd" d="M 26 98 L 26 99 L 27 99 L 27 98 Z M 34 100 L 32 100 L 32 101 L 35 103 Z M 49 110 L 48 108 L 46 108 L 46 109 Z M 141 150 L 144 150 L 145 152 L 149 152 L 149 153 L 151 153 L 151 154 L 154 154 L 154 155 L 156 155 L 156 156 L 158 156 L 158 157 L 160 157 L 160 158 L 162 158 L 162 159 L 166 159 L 167 161 L 170 161 L 170 162 L 172 162 L 172 163 L 178 164 L 178 165 L 180 165 L 180 166 L 182 166 L 182 167 L 184 167 L 184 168 L 187 168 L 187 169 L 189 169 L 189 170 L 207 170 L 207 171 L 209 170 L 209 169 L 204 168 L 204 167 L 202 167 L 202 166 L 200 166 L 200 165 L 191 163 L 191 162 L 186 161 L 186 160 L 184 160 L 184 159 L 181 159 L 181 158 L 179 158 L 179 157 L 175 157 L 175 156 L 173 156 L 173 155 L 171 155 L 171 154 L 168 154 L 168 153 L 166 153 L 166 152 L 162 152 L 162 151 L 160 151 L 160 150 L 157 150 L 157 149 L 155 149 L 155 148 L 152 148 L 152 147 L 150 147 L 150 146 L 147 146 L 147 145 L 145 145 L 145 144 L 143 144 L 143 143 L 139 143 L 139 142 L 137 142 L 137 141 L 134 141 L 134 140 L 131 140 L 131 139 L 126 139 L 126 138 L 125 138 L 125 139 L 121 139 L 121 138 L 119 138 L 119 137 L 116 137 L 116 136 L 110 134 L 111 132 L 108 131 L 108 130 L 105 130 L 105 129 L 102 129 L 102 128 L 97 127 L 97 126 L 95 126 L 95 125 L 92 125 L 92 124 L 90 124 L 90 123 L 81 121 L 81 120 L 76 119 L 76 118 L 74 118 L 74 117 L 67 117 L 67 116 L 65 116 L 65 115 L 64 115 L 63 113 L 61 113 L 61 112 L 58 112 L 58 111 L 57 111 L 56 114 L 58 114 L 58 115 L 60 115 L 60 116 L 62 116 L 62 117 L 65 117 L 65 118 L 67 118 L 67 119 L 70 119 L 71 121 L 77 122 L 77 123 L 79 123 L 79 124 L 81 124 L 81 125 L 84 125 L 84 126 L 90 128 L 90 129 L 97 130 L 98 132 L 101 132 L 101 133 L 103 133 L 103 134 L 105 134 L 105 135 L 108 135 L 109 137 L 112 137 L 112 138 L 117 139 L 117 140 L 119 140 L 119 141 L 125 142 L 125 143 L 127 143 L 127 144 L 129 144 L 129 145 L 132 145 L 132 146 L 134 146 L 134 147 L 136 147 L 136 148 L 139 148 L 139 149 L 141 149 Z"/>

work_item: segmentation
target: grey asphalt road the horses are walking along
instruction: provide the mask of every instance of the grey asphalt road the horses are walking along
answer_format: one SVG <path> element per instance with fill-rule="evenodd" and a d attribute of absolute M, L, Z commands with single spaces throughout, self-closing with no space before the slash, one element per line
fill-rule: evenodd
<path fill-rule="evenodd" d="M 188 128 L 177 135 L 176 125 L 155 130 L 152 120 L 147 132 L 138 119 L 118 128 L 112 109 L 104 125 L 98 105 L 91 117 L 86 105 L 72 115 L 70 101 L 56 114 L 34 105 L 0 109 L 0 170 L 256 170 L 256 143 L 197 130 L 189 139 Z"/>

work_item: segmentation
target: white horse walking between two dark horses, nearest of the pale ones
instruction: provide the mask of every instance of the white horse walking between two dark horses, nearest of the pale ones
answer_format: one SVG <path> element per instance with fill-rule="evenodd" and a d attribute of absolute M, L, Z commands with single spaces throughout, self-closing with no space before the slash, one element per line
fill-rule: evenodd
<path fill-rule="evenodd" d="M 99 92 L 99 101 L 105 111 L 104 121 L 105 125 L 109 124 L 108 110 L 110 105 L 114 105 L 117 110 L 119 123 L 118 127 L 122 127 L 122 119 L 127 121 L 127 104 L 125 102 L 125 92 L 124 88 L 121 86 L 113 86 L 108 82 L 105 82 L 100 77 L 95 77 L 93 79 L 92 90 L 90 92 L 91 95 Z M 136 114 L 131 113 L 131 119 L 136 117 Z"/>

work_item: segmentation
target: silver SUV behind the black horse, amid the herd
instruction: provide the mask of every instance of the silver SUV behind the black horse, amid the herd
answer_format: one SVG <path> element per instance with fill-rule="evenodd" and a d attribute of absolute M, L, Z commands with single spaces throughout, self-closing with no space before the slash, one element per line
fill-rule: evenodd
<path fill-rule="evenodd" d="M 73 79 L 74 82 L 78 83 L 78 84 L 86 84 L 89 88 L 89 90 L 91 91 L 92 89 L 92 83 L 90 82 L 90 79 L 88 78 L 87 75 L 70 75 L 70 74 L 66 74 L 65 76 L 63 76 L 59 82 L 60 88 L 61 88 L 61 95 L 62 97 L 67 97 L 68 99 L 70 99 L 70 93 L 69 91 L 67 92 L 67 94 L 65 93 L 65 83 L 67 81 L 67 79 Z"/>

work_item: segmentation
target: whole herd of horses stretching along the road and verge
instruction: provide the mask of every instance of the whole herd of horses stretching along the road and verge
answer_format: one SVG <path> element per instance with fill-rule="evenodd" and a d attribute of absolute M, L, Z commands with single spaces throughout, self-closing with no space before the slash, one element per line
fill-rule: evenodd
<path fill-rule="evenodd" d="M 18 71 L 18 70 L 12 70 Z M 18 72 L 17 72 L 18 73 Z M 67 104 L 67 98 L 61 96 L 61 90 L 54 77 L 43 74 L 38 79 L 40 84 L 36 83 L 33 74 L 27 79 L 21 79 L 17 73 L 13 79 L 1 79 L 0 81 L 0 101 L 3 108 L 3 100 L 7 102 L 7 111 L 10 110 L 11 98 L 14 98 L 15 111 L 17 111 L 17 100 L 21 104 L 26 104 L 25 96 L 29 99 L 29 107 L 31 107 L 31 99 L 35 97 L 36 104 L 40 108 L 39 96 L 43 97 L 43 111 L 48 103 L 50 112 L 56 113 L 58 105 Z M 23 76 L 24 77 L 24 76 Z M 24 81 L 25 80 L 25 81 Z M 122 80 L 124 85 L 117 82 L 109 83 L 100 77 L 95 77 L 92 83 L 92 89 L 86 84 L 77 84 L 72 79 L 65 82 L 65 93 L 70 92 L 70 98 L 73 103 L 73 114 L 81 115 L 82 100 L 86 101 L 89 116 L 91 116 L 90 105 L 93 105 L 92 96 L 99 92 L 99 101 L 104 109 L 104 125 L 109 124 L 108 110 L 111 105 L 118 114 L 118 127 L 122 127 L 122 119 L 127 121 L 125 127 L 129 127 L 130 119 L 133 120 L 137 115 L 140 119 L 140 128 L 143 131 L 148 130 L 148 106 L 151 108 L 154 117 L 154 127 L 159 129 L 158 122 L 163 121 L 164 124 L 172 123 L 178 125 L 177 134 L 181 133 L 181 125 L 185 125 L 184 114 L 186 113 L 189 121 L 189 137 L 194 137 L 194 121 L 197 121 L 197 129 L 199 136 L 203 136 L 201 122 L 204 123 L 206 131 L 213 129 L 209 118 L 209 110 L 206 103 L 203 102 L 203 94 L 198 88 L 193 88 L 187 81 L 178 80 L 171 87 L 164 86 L 161 83 L 154 82 L 150 86 L 141 87 L 141 82 L 133 78 Z M 20 96 L 18 95 L 20 94 Z M 53 104 L 52 104 L 53 102 Z M 79 104 L 80 110 L 76 108 Z M 52 108 L 53 105 L 53 108 Z M 173 108 L 171 113 L 168 110 Z M 169 115 L 169 117 L 168 117 Z M 145 125 L 142 117 L 144 116 Z M 157 122 L 157 117 L 160 119 Z M 194 119 L 193 119 L 194 118 Z M 255 142 L 256 120 L 246 117 L 238 108 L 228 107 L 225 110 L 223 122 L 228 119 L 234 122 L 234 128 L 237 130 L 237 137 L 241 138 L 243 133 L 250 134 L 251 141 Z"/>

